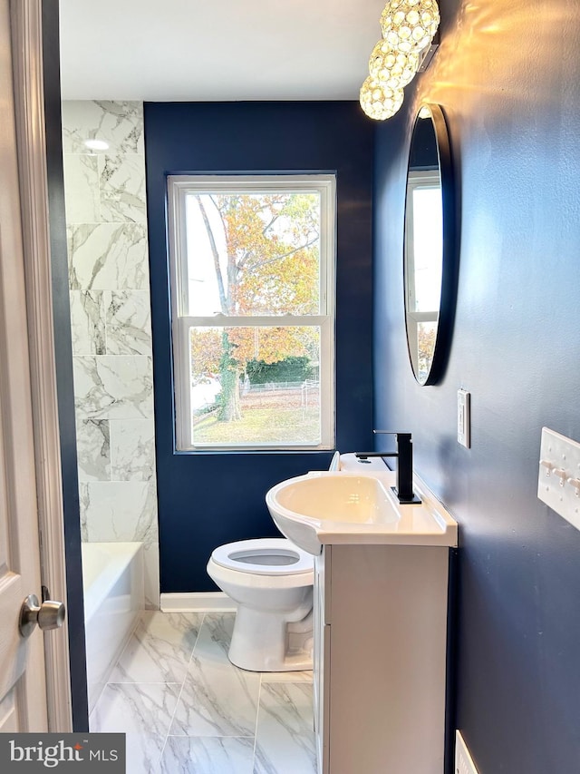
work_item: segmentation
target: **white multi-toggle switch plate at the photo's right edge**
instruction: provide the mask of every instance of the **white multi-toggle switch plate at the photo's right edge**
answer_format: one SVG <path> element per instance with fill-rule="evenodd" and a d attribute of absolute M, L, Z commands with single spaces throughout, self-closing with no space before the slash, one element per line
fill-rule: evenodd
<path fill-rule="evenodd" d="M 580 529 L 580 444 L 542 427 L 537 496 Z"/>

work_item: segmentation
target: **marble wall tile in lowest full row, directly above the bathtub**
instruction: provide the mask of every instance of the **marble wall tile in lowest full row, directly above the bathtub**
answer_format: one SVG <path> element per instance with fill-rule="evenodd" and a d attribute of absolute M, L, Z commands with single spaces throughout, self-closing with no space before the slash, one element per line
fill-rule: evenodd
<path fill-rule="evenodd" d="M 159 543 L 157 496 L 150 482 L 87 482 L 82 508 L 89 543 Z"/>

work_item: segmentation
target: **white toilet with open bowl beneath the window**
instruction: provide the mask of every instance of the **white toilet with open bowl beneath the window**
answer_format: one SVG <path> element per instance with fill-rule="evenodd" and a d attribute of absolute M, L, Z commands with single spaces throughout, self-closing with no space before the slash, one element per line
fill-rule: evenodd
<path fill-rule="evenodd" d="M 312 669 L 314 557 L 285 538 L 211 554 L 208 575 L 237 603 L 229 660 L 251 671 Z"/>

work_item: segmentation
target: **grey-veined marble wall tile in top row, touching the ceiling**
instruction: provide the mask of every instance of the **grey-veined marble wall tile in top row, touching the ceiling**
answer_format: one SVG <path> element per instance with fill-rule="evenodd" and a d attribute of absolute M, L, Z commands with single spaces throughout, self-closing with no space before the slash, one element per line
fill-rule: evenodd
<path fill-rule="evenodd" d="M 103 140 L 108 152 L 144 154 L 140 102 L 63 102 L 63 151 L 86 153 L 85 140 Z"/>

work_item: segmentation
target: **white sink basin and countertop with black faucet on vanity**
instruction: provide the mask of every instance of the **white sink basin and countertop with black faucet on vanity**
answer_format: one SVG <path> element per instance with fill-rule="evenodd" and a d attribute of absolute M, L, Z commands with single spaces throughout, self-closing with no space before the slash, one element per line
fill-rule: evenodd
<path fill-rule="evenodd" d="M 391 471 L 368 475 L 316 471 L 289 478 L 266 494 L 276 526 L 309 554 L 324 544 L 457 545 L 457 524 L 432 499 L 400 505 Z"/>

